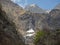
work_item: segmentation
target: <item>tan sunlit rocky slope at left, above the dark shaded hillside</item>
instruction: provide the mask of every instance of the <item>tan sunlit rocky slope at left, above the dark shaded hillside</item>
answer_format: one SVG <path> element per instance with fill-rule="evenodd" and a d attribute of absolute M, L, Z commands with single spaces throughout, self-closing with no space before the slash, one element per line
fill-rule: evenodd
<path fill-rule="evenodd" d="M 13 22 L 16 25 L 18 32 L 20 32 L 18 16 L 23 14 L 25 11 L 10 0 L 0 0 L 0 5 L 2 6 L 1 10 L 7 14 L 8 21 L 10 21 L 10 23 Z"/>

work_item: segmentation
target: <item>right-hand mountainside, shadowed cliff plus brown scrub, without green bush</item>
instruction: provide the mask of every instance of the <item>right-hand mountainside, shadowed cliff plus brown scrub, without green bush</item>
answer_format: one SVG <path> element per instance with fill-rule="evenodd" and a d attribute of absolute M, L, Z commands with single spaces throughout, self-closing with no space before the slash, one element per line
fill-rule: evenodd
<path fill-rule="evenodd" d="M 60 45 L 60 9 L 53 9 L 48 15 L 44 35 L 40 35 L 35 45 Z"/>

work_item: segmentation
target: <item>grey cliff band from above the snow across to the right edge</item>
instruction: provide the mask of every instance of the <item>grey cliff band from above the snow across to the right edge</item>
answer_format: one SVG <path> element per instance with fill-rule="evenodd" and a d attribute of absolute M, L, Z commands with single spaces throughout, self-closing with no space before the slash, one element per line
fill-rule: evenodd
<path fill-rule="evenodd" d="M 53 9 L 49 14 L 45 13 L 30 13 L 26 12 L 18 17 L 20 22 L 19 27 L 22 30 L 33 28 L 34 30 L 41 29 L 60 29 L 60 10 Z M 23 28 L 22 28 L 23 27 Z"/>

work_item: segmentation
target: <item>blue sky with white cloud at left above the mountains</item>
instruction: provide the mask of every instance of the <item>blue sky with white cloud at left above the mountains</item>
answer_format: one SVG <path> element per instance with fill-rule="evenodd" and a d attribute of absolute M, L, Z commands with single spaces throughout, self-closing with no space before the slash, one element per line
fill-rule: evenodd
<path fill-rule="evenodd" d="M 53 9 L 57 4 L 60 3 L 60 0 L 12 0 L 21 7 L 25 7 L 29 4 L 36 4 L 40 8 L 45 10 Z"/>

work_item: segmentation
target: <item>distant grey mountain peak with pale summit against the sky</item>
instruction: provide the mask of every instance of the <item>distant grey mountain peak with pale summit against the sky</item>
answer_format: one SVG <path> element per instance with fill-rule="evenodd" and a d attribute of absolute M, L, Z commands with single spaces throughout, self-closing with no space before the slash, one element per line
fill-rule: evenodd
<path fill-rule="evenodd" d="M 30 11 L 32 13 L 46 13 L 46 10 L 43 10 L 42 8 L 37 6 L 36 4 L 27 5 L 25 7 L 25 10 Z"/>

